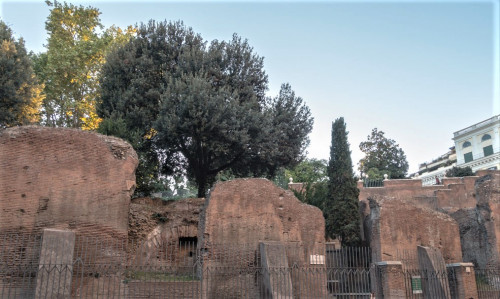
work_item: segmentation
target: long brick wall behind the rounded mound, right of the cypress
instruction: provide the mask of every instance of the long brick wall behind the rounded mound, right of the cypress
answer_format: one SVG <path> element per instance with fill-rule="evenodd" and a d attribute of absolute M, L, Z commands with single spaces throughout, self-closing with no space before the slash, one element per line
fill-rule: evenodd
<path fill-rule="evenodd" d="M 370 208 L 373 203 L 368 198 L 375 199 L 375 201 L 397 198 L 408 207 L 412 207 L 411 209 L 420 208 L 420 210 L 406 214 L 402 211 L 403 217 L 407 219 L 425 218 L 426 216 L 420 215 L 420 211 L 429 209 L 434 210 L 436 215 L 451 216 L 459 228 L 463 252 L 460 261 L 473 262 L 478 268 L 499 267 L 500 221 L 497 219 L 500 219 L 500 171 L 482 170 L 478 171 L 476 176 L 444 178 L 442 184 L 422 187 L 420 180 L 388 180 L 384 181 L 382 188 L 363 188 L 362 184 L 358 184 L 361 190 L 361 211 L 365 220 L 363 226 L 365 238 L 367 240 L 383 238 L 377 235 L 379 232 L 377 226 L 374 226 L 374 219 L 382 219 L 383 216 L 379 215 L 378 209 Z M 389 215 L 389 217 L 393 216 Z M 408 234 L 413 236 L 430 229 L 424 223 L 420 225 L 415 227 L 414 232 L 408 231 Z M 390 238 L 390 235 L 385 235 L 385 237 Z M 406 249 L 404 244 L 398 246 L 400 250 Z M 439 248 L 439 246 L 434 247 Z"/>

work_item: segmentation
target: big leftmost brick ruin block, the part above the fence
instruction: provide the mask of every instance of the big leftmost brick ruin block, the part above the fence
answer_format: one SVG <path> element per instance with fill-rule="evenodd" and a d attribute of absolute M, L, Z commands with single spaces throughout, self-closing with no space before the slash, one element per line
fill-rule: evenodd
<path fill-rule="evenodd" d="M 137 161 L 125 141 L 92 132 L 0 131 L 0 234 L 50 227 L 126 238 Z"/>

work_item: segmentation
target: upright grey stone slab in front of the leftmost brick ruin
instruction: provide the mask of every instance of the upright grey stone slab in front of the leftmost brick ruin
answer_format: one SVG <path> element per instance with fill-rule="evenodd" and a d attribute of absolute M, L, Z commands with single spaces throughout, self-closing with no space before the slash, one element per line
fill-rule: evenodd
<path fill-rule="evenodd" d="M 43 230 L 35 298 L 70 297 L 74 248 L 74 232 Z"/>

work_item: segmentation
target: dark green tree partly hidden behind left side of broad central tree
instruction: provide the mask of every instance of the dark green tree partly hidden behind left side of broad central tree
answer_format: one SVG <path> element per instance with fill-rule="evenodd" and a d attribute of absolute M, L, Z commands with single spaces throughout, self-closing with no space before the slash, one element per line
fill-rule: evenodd
<path fill-rule="evenodd" d="M 103 122 L 98 131 L 133 145 L 139 156 L 138 194 L 154 191 L 162 183 L 161 175 L 184 169 L 167 167 L 181 157 L 168 156 L 156 146 L 153 137 L 157 131 L 153 126 L 170 80 L 181 74 L 182 57 L 199 55 L 204 46 L 203 39 L 181 23 L 151 21 L 141 24 L 136 38 L 116 47 L 106 57 L 97 107 Z"/>

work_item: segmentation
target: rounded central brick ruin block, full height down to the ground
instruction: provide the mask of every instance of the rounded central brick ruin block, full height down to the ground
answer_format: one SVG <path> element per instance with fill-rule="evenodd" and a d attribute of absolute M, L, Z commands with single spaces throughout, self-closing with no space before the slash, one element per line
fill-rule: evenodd
<path fill-rule="evenodd" d="M 203 252 L 203 272 L 212 273 L 210 281 L 205 282 L 204 295 L 207 298 L 259 297 L 262 288 L 256 285 L 255 273 L 242 272 L 236 267 L 260 266 L 261 241 L 283 244 L 289 266 L 322 269 L 318 271 L 322 274 L 314 280 L 301 276 L 300 270 L 294 272 L 291 275 L 294 296 L 318 298 L 325 295 L 325 220 L 321 210 L 301 203 L 291 191 L 266 179 L 220 182 L 206 199 L 198 242 Z M 315 254 L 323 257 L 323 263 L 312 261 L 311 256 Z M 224 265 L 235 272 L 218 277 L 213 271 Z M 247 285 L 248 288 L 238 290 L 234 285 Z"/>

